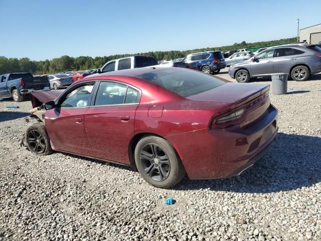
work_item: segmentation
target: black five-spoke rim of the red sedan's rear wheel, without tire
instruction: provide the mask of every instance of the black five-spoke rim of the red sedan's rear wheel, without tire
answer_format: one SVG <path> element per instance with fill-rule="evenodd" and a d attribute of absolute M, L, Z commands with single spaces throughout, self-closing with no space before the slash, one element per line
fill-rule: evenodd
<path fill-rule="evenodd" d="M 146 144 L 141 149 L 140 162 L 145 174 L 155 181 L 164 181 L 170 175 L 169 157 L 155 144 Z"/>

